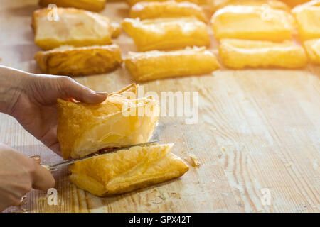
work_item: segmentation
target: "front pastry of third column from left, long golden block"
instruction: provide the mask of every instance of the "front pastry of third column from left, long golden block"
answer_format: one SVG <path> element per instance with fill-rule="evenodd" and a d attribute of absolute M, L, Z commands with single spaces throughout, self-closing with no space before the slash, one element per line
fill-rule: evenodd
<path fill-rule="evenodd" d="M 304 67 L 306 53 L 300 45 L 291 41 L 272 43 L 257 40 L 220 40 L 219 53 L 223 65 L 242 69 L 243 67 Z"/>

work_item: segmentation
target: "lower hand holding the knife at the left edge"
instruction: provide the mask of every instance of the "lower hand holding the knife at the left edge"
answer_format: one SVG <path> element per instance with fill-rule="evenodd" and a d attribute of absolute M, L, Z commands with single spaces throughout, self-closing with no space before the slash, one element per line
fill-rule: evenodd
<path fill-rule="evenodd" d="M 0 143 L 0 211 L 18 206 L 31 189 L 48 190 L 55 179 L 35 160 Z"/>

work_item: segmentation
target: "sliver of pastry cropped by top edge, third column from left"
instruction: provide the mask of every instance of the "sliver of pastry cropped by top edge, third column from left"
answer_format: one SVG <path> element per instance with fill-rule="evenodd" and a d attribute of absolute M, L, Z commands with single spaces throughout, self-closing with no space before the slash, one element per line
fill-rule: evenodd
<path fill-rule="evenodd" d="M 277 0 L 224 0 L 224 1 L 217 1 L 218 6 L 216 8 L 220 9 L 225 6 L 263 6 L 267 4 L 268 6 L 272 7 L 273 9 L 282 9 L 284 11 L 291 11 L 287 4 L 284 4 L 282 1 Z M 217 4 L 215 4 L 217 5 Z"/>

